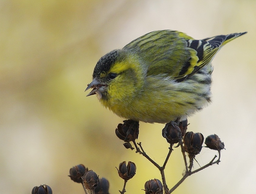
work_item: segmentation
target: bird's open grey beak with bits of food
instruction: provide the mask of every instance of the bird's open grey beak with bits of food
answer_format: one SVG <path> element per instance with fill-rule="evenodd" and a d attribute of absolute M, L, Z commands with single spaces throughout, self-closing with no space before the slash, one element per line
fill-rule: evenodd
<path fill-rule="evenodd" d="M 101 99 L 102 93 L 106 92 L 106 84 L 100 82 L 97 77 L 95 77 L 92 82 L 87 85 L 85 91 L 89 90 L 90 88 L 92 88 L 93 90 L 89 94 L 87 94 L 87 96 L 97 94 L 98 99 Z"/>

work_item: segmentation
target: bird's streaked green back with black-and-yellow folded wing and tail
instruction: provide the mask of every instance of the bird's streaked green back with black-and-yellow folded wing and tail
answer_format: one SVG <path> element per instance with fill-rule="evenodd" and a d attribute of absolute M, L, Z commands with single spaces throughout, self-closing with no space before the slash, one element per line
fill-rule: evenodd
<path fill-rule="evenodd" d="M 135 39 L 122 50 L 137 56 L 147 75 L 168 74 L 183 81 L 210 63 L 222 46 L 245 33 L 194 40 L 179 31 L 159 30 Z"/>

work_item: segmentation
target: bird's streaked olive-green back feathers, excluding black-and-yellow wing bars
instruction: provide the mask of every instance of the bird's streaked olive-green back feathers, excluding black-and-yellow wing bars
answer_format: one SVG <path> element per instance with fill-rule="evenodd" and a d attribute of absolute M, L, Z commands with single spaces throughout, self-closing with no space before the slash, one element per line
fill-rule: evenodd
<path fill-rule="evenodd" d="M 123 50 L 137 56 L 140 64 L 147 68 L 147 75 L 161 73 L 174 76 L 181 71 L 184 60 L 189 60 L 190 53 L 184 49 L 187 42 L 183 36 L 192 39 L 178 31 L 153 31 L 127 44 Z"/>

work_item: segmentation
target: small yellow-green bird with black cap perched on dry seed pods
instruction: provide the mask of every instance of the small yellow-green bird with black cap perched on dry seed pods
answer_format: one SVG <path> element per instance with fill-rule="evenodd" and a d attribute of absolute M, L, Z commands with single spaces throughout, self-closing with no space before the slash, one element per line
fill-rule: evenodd
<path fill-rule="evenodd" d="M 87 95 L 119 117 L 148 123 L 185 120 L 211 102 L 211 65 L 217 51 L 245 34 L 194 40 L 173 30 L 149 32 L 102 56 Z"/>

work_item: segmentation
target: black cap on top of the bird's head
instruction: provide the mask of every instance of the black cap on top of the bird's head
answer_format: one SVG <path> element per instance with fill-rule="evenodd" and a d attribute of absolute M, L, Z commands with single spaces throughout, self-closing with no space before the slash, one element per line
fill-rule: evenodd
<path fill-rule="evenodd" d="M 111 65 L 114 64 L 117 60 L 119 51 L 120 50 L 113 50 L 113 51 L 105 54 L 98 60 L 96 66 L 93 70 L 93 75 L 92 75 L 93 78 L 95 78 L 96 76 L 99 76 L 100 73 L 102 73 L 102 72 L 107 72 L 110 70 Z"/>

